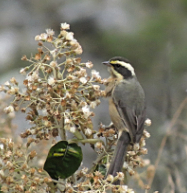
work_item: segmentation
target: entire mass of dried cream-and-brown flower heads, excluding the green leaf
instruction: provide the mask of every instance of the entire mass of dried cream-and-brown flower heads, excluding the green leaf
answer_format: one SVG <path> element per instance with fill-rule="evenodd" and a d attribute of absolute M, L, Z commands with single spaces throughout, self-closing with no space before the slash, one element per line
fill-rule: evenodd
<path fill-rule="evenodd" d="M 29 151 L 28 147 L 33 142 L 39 143 L 56 136 L 67 140 L 67 134 L 71 132 L 73 138 L 69 142 L 90 143 L 92 147 L 95 144 L 98 157 L 89 170 L 83 168 L 77 171 L 74 180 L 69 177 L 58 182 L 57 185 L 62 185 L 61 188 L 58 186 L 61 192 L 94 193 L 110 189 L 112 192 L 133 193 L 127 186 L 112 184 L 115 180 L 124 180 L 122 172 L 116 177 L 109 175 L 105 178 L 106 172 L 98 169 L 99 166 L 109 165 L 118 133 L 112 126 L 101 124 L 99 130 L 93 128 L 91 118 L 94 113 L 91 109 L 100 104 L 100 97 L 105 96 L 99 84 L 106 83 L 106 80 L 102 80 L 95 70 L 91 70 L 91 75 L 87 74 L 87 68 L 91 69 L 93 64 L 90 61 L 82 63 L 77 57 L 82 48 L 69 28 L 69 24 L 63 23 L 58 37 L 51 29 L 35 37 L 39 46 L 37 53 L 30 58 L 22 57 L 23 61 L 30 63 L 20 70 L 26 76 L 23 81 L 25 89 L 21 89 L 14 77 L 0 86 L 0 91 L 13 96 L 10 105 L 4 107 L 4 112 L 12 116 L 20 110 L 30 123 L 30 127 L 21 134 L 22 138 L 27 138 L 25 149 L 8 138 L 0 138 L 1 190 L 27 193 L 52 190 L 47 173 L 31 166 L 36 151 Z M 147 121 L 147 125 L 150 124 Z M 140 155 L 147 153 L 144 146 L 145 138 L 149 136 L 144 131 L 139 146 L 135 150 L 129 149 L 126 155 L 124 168 L 130 175 L 135 173 L 137 166 L 144 167 L 148 163 Z"/>

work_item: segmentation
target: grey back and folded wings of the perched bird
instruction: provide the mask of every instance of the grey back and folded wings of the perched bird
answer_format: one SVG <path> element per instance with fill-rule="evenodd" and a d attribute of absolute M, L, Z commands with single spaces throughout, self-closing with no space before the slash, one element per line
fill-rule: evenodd
<path fill-rule="evenodd" d="M 127 127 L 131 142 L 139 142 L 146 118 L 144 91 L 136 80 L 122 81 L 113 93 L 113 100 Z"/>

